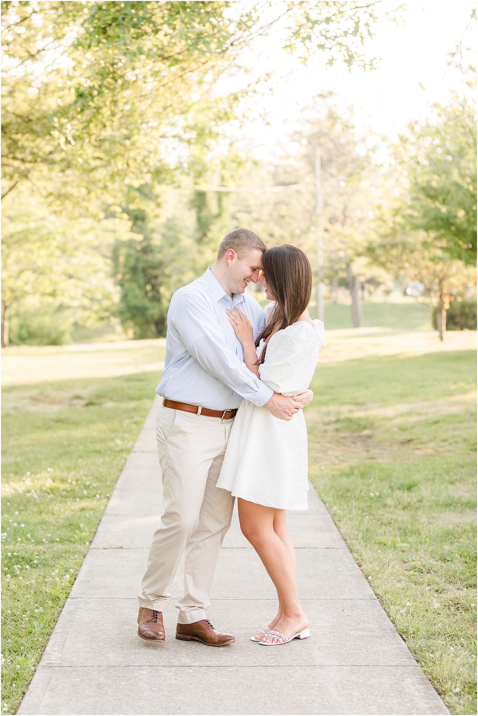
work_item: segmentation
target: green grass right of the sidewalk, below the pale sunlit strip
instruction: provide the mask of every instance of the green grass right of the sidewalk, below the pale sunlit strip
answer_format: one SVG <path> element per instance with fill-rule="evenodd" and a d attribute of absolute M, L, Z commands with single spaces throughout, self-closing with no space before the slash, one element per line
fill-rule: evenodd
<path fill-rule="evenodd" d="M 474 351 L 320 364 L 310 477 L 453 713 L 476 712 Z"/>

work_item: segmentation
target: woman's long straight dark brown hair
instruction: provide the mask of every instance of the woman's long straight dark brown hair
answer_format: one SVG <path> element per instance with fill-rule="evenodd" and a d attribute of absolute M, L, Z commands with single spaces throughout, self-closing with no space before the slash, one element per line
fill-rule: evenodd
<path fill-rule="evenodd" d="M 286 243 L 268 248 L 263 253 L 262 262 L 268 289 L 275 296 L 275 306 L 255 342 L 256 347 L 260 339 L 268 339 L 275 329 L 281 331 L 296 323 L 306 310 L 312 293 L 311 264 L 297 246 Z M 266 349 L 267 344 L 260 354 L 259 363 L 264 362 Z"/>

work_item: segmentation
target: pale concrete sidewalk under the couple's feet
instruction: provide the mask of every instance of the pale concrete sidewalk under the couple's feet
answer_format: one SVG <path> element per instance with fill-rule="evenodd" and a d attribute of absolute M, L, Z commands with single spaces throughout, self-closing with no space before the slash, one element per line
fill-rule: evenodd
<path fill-rule="evenodd" d="M 275 590 L 240 533 L 221 550 L 208 616 L 236 642 L 175 639 L 182 565 L 165 608 L 166 644 L 137 637 L 137 591 L 160 518 L 153 405 L 125 464 L 19 714 L 447 714 L 389 621 L 315 491 L 288 514 L 311 638 L 261 647 Z"/>

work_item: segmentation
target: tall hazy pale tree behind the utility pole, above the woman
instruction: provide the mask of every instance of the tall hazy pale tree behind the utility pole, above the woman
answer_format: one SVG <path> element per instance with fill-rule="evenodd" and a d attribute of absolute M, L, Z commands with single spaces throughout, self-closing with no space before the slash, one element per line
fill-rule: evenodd
<path fill-rule="evenodd" d="M 331 286 L 338 281 L 348 285 L 353 325 L 358 326 L 361 282 L 379 279 L 377 284 L 383 277 L 383 271 L 364 256 L 371 233 L 369 214 L 375 205 L 369 167 L 358 153 L 349 113 L 321 97 L 304 118 L 303 130 L 293 138 L 301 146 L 296 155 L 238 168 L 235 183 L 239 190 L 233 189 L 229 195 L 230 225 L 248 226 L 266 243 L 300 246 L 317 275 L 315 158 L 316 147 L 320 147 L 323 275 Z M 208 196 L 212 194 L 210 191 Z"/>

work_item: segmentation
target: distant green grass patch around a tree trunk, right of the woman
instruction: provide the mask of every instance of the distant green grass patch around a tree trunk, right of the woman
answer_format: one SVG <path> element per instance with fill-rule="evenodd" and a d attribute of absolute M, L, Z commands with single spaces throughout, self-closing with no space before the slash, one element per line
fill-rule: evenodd
<path fill-rule="evenodd" d="M 410 299 L 411 301 L 411 299 Z M 364 326 L 380 326 L 401 331 L 429 331 L 431 328 L 431 309 L 415 301 L 401 303 L 364 303 Z M 351 328 L 350 306 L 346 304 L 326 304 L 324 306 L 326 329 Z"/>

